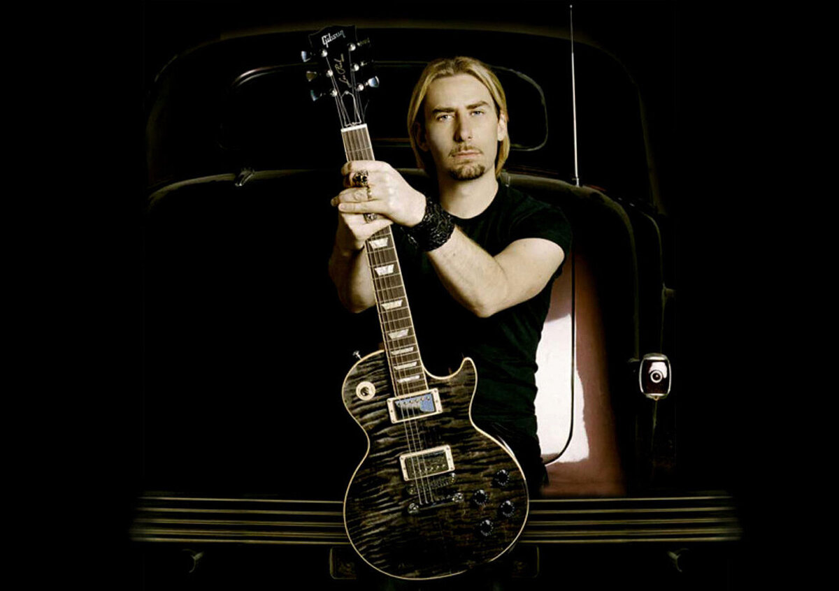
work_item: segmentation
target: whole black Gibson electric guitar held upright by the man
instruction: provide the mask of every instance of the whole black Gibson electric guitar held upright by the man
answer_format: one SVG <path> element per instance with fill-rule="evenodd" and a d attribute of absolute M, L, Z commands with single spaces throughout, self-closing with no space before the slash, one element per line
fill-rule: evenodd
<path fill-rule="evenodd" d="M 369 40 L 355 27 L 311 34 L 311 96 L 335 99 L 347 160 L 373 160 L 362 97 Z M 477 375 L 471 359 L 451 376 L 425 371 L 391 226 L 366 242 L 384 350 L 347 374 L 343 400 L 367 435 L 367 454 L 344 498 L 352 547 L 396 578 L 442 578 L 492 562 L 519 538 L 529 502 L 513 454 L 470 415 Z"/>

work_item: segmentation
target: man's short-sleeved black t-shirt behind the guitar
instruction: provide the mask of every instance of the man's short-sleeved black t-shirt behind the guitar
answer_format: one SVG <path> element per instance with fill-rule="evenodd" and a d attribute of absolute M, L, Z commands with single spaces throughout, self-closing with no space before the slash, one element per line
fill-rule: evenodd
<path fill-rule="evenodd" d="M 493 257 L 522 238 L 545 238 L 566 254 L 571 246 L 571 226 L 559 208 L 502 184 L 486 210 L 454 221 Z M 477 367 L 472 417 L 477 422 L 501 421 L 535 438 L 536 347 L 553 282 L 526 302 L 478 318 L 446 291 L 424 252 L 402 231 L 394 236 L 425 367 L 445 376 L 464 356 L 471 357 Z"/>

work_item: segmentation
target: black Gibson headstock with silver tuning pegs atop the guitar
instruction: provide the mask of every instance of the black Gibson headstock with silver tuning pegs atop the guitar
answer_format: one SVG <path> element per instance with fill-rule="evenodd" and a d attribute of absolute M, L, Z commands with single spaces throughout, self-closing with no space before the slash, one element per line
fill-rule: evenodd
<path fill-rule="evenodd" d="M 310 51 L 301 52 L 313 69 L 306 72 L 312 101 L 335 99 L 341 127 L 364 122 L 364 95 L 378 87 L 370 58 L 370 39 L 358 41 L 355 25 L 326 27 L 309 35 Z"/>

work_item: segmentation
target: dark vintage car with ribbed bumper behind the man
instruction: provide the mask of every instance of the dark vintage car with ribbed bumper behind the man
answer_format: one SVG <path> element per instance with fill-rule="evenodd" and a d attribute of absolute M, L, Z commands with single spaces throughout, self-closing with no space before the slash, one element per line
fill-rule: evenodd
<path fill-rule="evenodd" d="M 143 465 L 129 529 L 144 588 L 366 588 L 341 521 L 365 439 L 340 391 L 380 334 L 326 274 L 345 157 L 300 53 L 332 24 L 372 41 L 376 158 L 425 182 L 404 129 L 411 88 L 429 60 L 473 55 L 508 94 L 501 182 L 571 220 L 537 359 L 550 485 L 513 550 L 517 588 L 735 577 L 728 423 L 697 378 L 724 361 L 689 355 L 698 328 L 680 299 L 675 7 L 574 8 L 576 120 L 566 7 L 446 11 L 145 5 Z"/>

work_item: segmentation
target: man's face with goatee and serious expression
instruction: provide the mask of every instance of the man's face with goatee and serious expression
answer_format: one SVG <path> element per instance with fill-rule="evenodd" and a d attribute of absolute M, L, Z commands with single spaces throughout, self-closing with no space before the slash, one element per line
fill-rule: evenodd
<path fill-rule="evenodd" d="M 424 103 L 425 129 L 418 132 L 420 149 L 429 151 L 438 174 L 471 180 L 495 174 L 498 142 L 507 122 L 495 114 L 487 87 L 472 75 L 438 78 Z"/>

